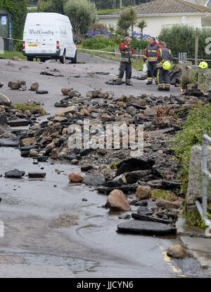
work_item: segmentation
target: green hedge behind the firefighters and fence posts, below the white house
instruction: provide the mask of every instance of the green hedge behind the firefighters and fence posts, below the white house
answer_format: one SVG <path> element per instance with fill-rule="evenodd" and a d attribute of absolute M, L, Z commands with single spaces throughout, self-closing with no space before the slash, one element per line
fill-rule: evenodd
<path fill-rule="evenodd" d="M 205 53 L 207 44 L 205 40 L 211 35 L 210 29 L 198 30 L 198 59 L 208 59 L 211 61 L 211 54 Z M 165 41 L 174 57 L 178 57 L 181 52 L 187 53 L 187 58 L 195 58 L 195 29 L 188 25 L 173 25 L 162 28 L 158 41 Z"/>

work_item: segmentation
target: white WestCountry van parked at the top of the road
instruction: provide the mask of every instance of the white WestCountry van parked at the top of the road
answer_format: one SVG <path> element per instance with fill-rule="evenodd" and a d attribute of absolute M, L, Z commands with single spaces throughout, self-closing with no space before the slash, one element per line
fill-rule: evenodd
<path fill-rule="evenodd" d="M 27 13 L 23 32 L 23 55 L 28 61 L 40 58 L 66 59 L 77 62 L 77 48 L 72 36 L 72 25 L 67 16 L 58 13 Z"/>

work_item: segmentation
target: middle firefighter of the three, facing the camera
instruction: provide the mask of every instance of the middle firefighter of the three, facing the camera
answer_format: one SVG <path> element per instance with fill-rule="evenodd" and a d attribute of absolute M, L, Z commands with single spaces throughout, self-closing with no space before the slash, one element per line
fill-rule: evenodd
<path fill-rule="evenodd" d="M 155 38 L 151 37 L 150 43 L 146 47 L 146 60 L 148 61 L 148 79 L 147 85 L 153 84 L 153 78 L 155 79 L 155 84 L 158 84 L 157 80 L 157 51 L 160 48 L 160 45 L 156 43 Z"/>

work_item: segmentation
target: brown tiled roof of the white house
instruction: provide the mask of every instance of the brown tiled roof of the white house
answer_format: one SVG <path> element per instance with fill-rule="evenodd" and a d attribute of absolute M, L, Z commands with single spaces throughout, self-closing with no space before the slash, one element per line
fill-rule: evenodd
<path fill-rule="evenodd" d="M 154 0 L 134 7 L 138 15 L 174 14 L 174 13 L 211 13 L 211 8 L 191 4 L 183 0 Z M 126 9 L 127 10 L 127 9 Z M 121 15 L 124 11 L 111 13 Z"/>

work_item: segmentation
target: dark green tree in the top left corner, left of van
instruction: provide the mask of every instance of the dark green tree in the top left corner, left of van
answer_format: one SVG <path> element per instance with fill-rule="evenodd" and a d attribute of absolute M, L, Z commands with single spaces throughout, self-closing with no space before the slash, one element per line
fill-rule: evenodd
<path fill-rule="evenodd" d="M 27 0 L 0 0 L 0 7 L 13 15 L 13 36 L 15 39 L 22 39 L 27 15 Z"/>

